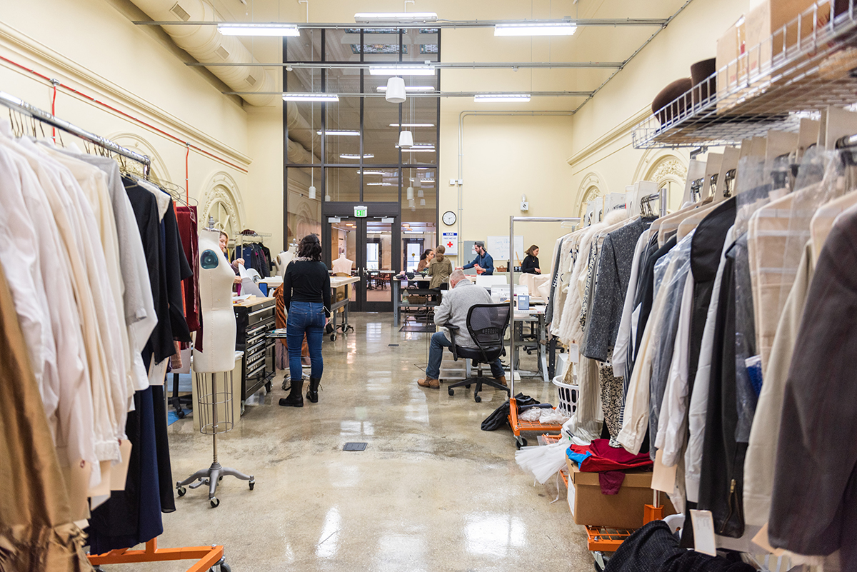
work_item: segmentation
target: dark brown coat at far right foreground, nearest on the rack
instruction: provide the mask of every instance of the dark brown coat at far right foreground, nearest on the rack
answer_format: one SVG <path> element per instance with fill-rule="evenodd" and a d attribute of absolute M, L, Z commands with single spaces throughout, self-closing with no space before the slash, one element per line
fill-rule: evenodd
<path fill-rule="evenodd" d="M 782 398 L 768 538 L 857 569 L 857 214 L 828 235 L 800 320 Z M 833 396 L 833 398 L 831 398 Z M 835 438 L 832 438 L 835 436 Z M 802 462 L 795 463 L 799 458 Z"/>

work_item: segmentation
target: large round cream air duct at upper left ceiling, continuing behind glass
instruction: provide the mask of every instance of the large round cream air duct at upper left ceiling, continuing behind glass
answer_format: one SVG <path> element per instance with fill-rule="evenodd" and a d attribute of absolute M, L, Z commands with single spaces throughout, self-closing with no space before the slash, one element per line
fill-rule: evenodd
<path fill-rule="evenodd" d="M 131 0 L 153 20 L 175 21 L 175 26 L 162 26 L 171 39 L 201 62 L 258 63 L 253 54 L 236 36 L 224 36 L 210 22 L 220 21 L 214 7 L 206 0 Z M 208 22 L 207 25 L 186 25 L 188 21 Z M 277 81 L 266 69 L 249 65 L 212 66 L 207 68 L 251 105 L 279 104 Z M 256 94 L 258 92 L 258 94 Z M 273 93 L 272 93 L 273 92 Z M 286 102 L 285 114 L 289 128 L 290 160 L 309 163 L 313 146 L 313 130 L 293 102 Z M 297 145 L 295 144 L 297 143 Z M 298 148 L 300 147 L 300 148 Z"/>

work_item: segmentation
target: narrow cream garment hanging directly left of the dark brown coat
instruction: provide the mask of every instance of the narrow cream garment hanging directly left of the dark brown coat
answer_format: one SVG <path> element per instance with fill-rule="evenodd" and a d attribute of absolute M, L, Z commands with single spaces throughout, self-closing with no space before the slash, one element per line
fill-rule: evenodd
<path fill-rule="evenodd" d="M 770 349 L 768 369 L 752 420 L 750 441 L 744 460 L 744 513 L 748 525 L 762 526 L 770 514 L 774 487 L 776 448 L 780 436 L 782 396 L 798 337 L 806 293 L 812 283 L 812 244 L 807 241 L 804 258 L 788 295 Z"/>

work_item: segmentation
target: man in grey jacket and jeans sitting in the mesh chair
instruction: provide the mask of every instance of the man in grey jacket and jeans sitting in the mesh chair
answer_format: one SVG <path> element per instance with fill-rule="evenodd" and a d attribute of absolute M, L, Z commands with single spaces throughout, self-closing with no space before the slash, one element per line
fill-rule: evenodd
<path fill-rule="evenodd" d="M 488 290 L 482 286 L 470 282 L 464 276 L 464 272 L 457 270 L 449 276 L 449 290 L 443 295 L 440 306 L 434 309 L 434 324 L 452 324 L 458 326 L 455 332 L 456 345 L 463 348 L 478 348 L 476 342 L 470 338 L 467 331 L 467 313 L 470 307 L 476 304 L 493 304 Z M 446 331 L 435 332 L 431 337 L 431 346 L 428 349 L 428 367 L 426 377 L 417 381 L 422 387 L 438 389 L 440 387 L 440 360 L 443 359 L 443 349 L 451 348 L 452 342 Z M 491 364 L 491 373 L 500 384 L 506 385 L 506 375 L 503 373 L 503 365 L 500 358 Z"/>

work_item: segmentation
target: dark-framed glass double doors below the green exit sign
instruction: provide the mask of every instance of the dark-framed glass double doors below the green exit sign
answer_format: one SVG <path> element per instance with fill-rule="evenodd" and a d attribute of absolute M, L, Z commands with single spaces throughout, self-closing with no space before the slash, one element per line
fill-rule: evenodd
<path fill-rule="evenodd" d="M 334 276 L 359 278 L 349 289 L 349 309 L 392 312 L 393 277 L 401 265 L 399 217 L 327 217 L 326 229 L 322 238 Z"/>

